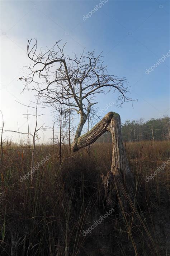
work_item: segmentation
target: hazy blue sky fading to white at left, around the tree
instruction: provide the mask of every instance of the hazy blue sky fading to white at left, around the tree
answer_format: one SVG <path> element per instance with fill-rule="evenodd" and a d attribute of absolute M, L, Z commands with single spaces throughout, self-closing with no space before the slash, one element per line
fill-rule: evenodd
<path fill-rule="evenodd" d="M 117 94 L 100 94 L 96 107 L 101 117 L 109 111 L 119 113 L 121 122 L 169 115 L 169 1 L 5 0 L 0 1 L 0 14 L 0 110 L 5 130 L 27 133 L 23 115 L 27 107 L 22 104 L 33 106 L 36 99 L 33 92 L 23 92 L 23 82 L 18 78 L 27 73 L 23 68 L 30 64 L 27 41 L 34 38 L 42 51 L 60 39 L 67 42 L 66 55 L 72 51 L 80 54 L 84 48 L 95 50 L 96 55 L 102 51 L 108 72 L 126 77 L 129 96 L 136 101 L 133 105 L 126 102 L 122 108 L 110 104 L 107 109 L 107 104 L 116 101 Z M 29 113 L 34 114 L 34 109 L 29 109 Z M 52 127 L 51 109 L 39 109 L 38 113 L 43 114 L 38 125 Z M 33 131 L 33 116 L 29 125 Z M 19 134 L 12 132 L 4 133 L 5 136 L 14 141 L 19 139 Z M 21 134 L 20 139 L 24 136 Z M 51 136 L 51 131 L 39 132 L 41 141 L 48 142 Z"/>

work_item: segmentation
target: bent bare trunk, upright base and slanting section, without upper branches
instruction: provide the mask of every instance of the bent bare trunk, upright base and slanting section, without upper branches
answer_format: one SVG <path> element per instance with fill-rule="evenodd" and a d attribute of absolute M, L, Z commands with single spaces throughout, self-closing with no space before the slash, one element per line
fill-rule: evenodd
<path fill-rule="evenodd" d="M 106 131 L 112 134 L 113 144 L 111 170 L 107 176 L 101 175 L 107 206 L 115 207 L 118 204 L 119 208 L 128 211 L 129 206 L 133 203 L 134 180 L 123 146 L 119 114 L 107 113 L 88 133 L 79 138 L 76 136 L 72 143 L 72 151 L 76 152 L 80 148 L 94 143 Z"/>

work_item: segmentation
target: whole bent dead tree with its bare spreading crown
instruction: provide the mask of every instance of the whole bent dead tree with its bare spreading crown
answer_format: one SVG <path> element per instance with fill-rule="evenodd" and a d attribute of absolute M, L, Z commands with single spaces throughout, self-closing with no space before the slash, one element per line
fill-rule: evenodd
<path fill-rule="evenodd" d="M 80 57 L 73 54 L 65 56 L 64 46 L 59 42 L 45 54 L 37 51 L 37 40 L 32 45 L 28 40 L 27 53 L 33 65 L 29 67 L 30 75 L 20 78 L 24 80 L 24 89 L 35 90 L 42 103 L 66 105 L 66 111 L 74 110 L 80 115 L 72 150 L 95 142 L 105 131 L 110 131 L 113 140 L 112 167 L 107 177 L 103 178 L 107 204 L 114 206 L 115 201 L 127 210 L 127 201 L 133 198 L 133 177 L 129 169 L 121 136 L 121 121 L 117 113 L 109 112 L 88 133 L 81 136 L 83 126 L 97 103 L 95 97 L 99 93 L 117 91 L 117 105 L 131 100 L 127 97 L 128 87 L 124 78 L 109 75 L 107 66 L 103 65 L 101 54 L 83 52 Z M 61 89 L 62 93 L 61 93 Z"/>

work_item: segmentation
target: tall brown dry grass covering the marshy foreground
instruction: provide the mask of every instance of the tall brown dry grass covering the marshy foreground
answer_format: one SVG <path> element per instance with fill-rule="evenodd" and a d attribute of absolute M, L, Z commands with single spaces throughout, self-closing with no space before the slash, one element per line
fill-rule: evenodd
<path fill-rule="evenodd" d="M 0 255 L 169 255 L 169 182 L 167 166 L 146 182 L 170 157 L 168 142 L 126 143 L 135 176 L 136 205 L 118 215 L 117 209 L 91 234 L 82 235 L 108 210 L 101 173 L 110 170 L 112 146 L 96 143 L 69 157 L 62 148 L 37 147 L 36 162 L 51 159 L 21 183 L 30 170 L 27 146 L 6 145 L 0 186 Z"/>

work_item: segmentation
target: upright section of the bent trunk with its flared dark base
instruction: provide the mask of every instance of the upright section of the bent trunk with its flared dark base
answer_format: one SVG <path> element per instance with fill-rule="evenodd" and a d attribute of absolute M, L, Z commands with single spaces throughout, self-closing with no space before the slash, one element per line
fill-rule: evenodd
<path fill-rule="evenodd" d="M 113 113 L 107 130 L 112 134 L 113 146 L 111 170 L 107 176 L 102 174 L 107 205 L 114 207 L 118 203 L 119 207 L 128 211 L 129 202 L 133 202 L 134 180 L 124 150 L 119 114 Z"/>

